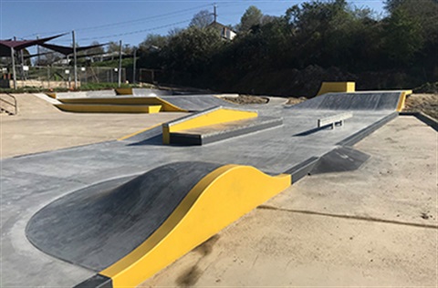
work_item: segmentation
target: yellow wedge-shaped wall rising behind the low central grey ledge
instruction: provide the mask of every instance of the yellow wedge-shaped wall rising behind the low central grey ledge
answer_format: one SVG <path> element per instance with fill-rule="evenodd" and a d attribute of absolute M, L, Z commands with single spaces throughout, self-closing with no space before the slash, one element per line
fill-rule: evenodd
<path fill-rule="evenodd" d="M 172 132 L 195 129 L 248 118 L 256 118 L 257 116 L 257 111 L 223 107 L 210 108 L 186 118 L 180 118 L 162 124 L 162 143 L 170 144 Z"/>

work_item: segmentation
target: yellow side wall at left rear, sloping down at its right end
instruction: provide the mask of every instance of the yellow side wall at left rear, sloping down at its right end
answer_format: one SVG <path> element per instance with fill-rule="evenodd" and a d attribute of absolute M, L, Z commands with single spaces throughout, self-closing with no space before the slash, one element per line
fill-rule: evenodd
<path fill-rule="evenodd" d="M 59 101 L 70 104 L 107 104 L 107 105 L 161 105 L 162 111 L 188 112 L 183 108 L 158 97 L 127 97 L 127 98 L 60 98 Z"/>

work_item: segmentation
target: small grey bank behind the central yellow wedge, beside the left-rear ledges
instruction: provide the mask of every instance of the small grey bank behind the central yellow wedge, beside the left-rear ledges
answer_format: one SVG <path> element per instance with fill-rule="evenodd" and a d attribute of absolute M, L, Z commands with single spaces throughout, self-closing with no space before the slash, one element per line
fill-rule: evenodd
<path fill-rule="evenodd" d="M 174 95 L 160 98 L 186 111 L 201 111 L 215 106 L 235 107 L 234 104 L 215 98 L 213 95 Z"/>

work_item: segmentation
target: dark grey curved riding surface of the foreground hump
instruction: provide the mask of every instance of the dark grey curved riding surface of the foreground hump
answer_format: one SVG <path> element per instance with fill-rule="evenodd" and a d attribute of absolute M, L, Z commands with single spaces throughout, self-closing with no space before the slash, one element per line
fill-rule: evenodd
<path fill-rule="evenodd" d="M 26 236 L 47 254 L 103 270 L 151 236 L 193 186 L 220 166 L 172 163 L 75 191 L 38 211 Z"/>

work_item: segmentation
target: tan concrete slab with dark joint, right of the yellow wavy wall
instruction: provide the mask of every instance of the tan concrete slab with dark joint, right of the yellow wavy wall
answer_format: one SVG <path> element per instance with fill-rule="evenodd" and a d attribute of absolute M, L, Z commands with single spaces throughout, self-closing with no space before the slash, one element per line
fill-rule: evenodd
<path fill-rule="evenodd" d="M 354 149 L 359 170 L 300 180 L 140 287 L 436 287 L 436 131 L 400 117 Z"/>

